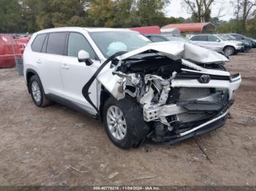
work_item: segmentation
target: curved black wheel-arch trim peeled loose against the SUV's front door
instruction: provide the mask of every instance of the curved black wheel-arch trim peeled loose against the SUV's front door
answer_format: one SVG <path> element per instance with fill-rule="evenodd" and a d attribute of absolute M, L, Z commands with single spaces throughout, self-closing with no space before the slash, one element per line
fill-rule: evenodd
<path fill-rule="evenodd" d="M 89 79 L 89 81 L 86 83 L 86 85 L 83 86 L 82 89 L 82 94 L 83 97 L 86 98 L 86 100 L 89 102 L 89 104 L 91 104 L 91 106 L 94 107 L 94 109 L 97 111 L 97 113 L 99 114 L 99 109 L 97 109 L 97 106 L 94 105 L 94 103 L 91 101 L 90 98 L 90 93 L 89 93 L 89 88 L 91 87 L 92 83 L 94 82 L 94 80 L 97 78 L 97 76 L 99 75 L 99 72 L 102 71 L 102 69 L 110 62 L 112 61 L 114 58 L 116 58 L 118 55 L 123 55 L 124 51 L 121 52 L 116 52 L 116 54 L 110 56 L 110 58 L 107 59 L 107 61 L 105 61 L 104 63 L 102 63 L 101 66 L 99 66 L 99 69 L 97 69 L 97 71 L 95 71 L 94 75 L 91 77 L 91 79 Z"/>

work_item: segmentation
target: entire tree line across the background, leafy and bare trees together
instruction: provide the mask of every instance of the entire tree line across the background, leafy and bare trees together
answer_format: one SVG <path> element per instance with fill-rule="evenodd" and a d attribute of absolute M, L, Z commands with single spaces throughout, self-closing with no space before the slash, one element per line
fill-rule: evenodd
<path fill-rule="evenodd" d="M 256 34 L 256 0 L 231 0 L 236 11 L 229 22 L 211 17 L 214 1 L 181 0 L 191 15 L 166 17 L 171 0 L 0 0 L 1 33 L 33 33 L 61 26 L 120 27 L 165 26 L 170 23 L 212 22 L 220 32 Z"/>

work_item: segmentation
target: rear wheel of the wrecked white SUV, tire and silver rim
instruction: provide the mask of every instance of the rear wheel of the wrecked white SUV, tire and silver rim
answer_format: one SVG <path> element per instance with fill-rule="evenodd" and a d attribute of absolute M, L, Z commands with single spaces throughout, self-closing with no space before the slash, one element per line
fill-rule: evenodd
<path fill-rule="evenodd" d="M 36 75 L 32 76 L 29 80 L 29 92 L 36 106 L 45 107 L 51 103 L 51 101 L 46 98 L 42 83 Z"/>

